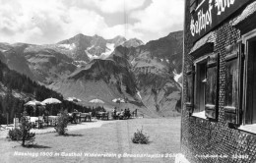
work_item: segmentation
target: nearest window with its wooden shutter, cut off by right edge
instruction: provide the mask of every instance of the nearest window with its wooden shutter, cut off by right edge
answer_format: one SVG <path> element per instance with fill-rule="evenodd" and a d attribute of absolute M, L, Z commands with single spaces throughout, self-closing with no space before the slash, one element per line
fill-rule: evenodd
<path fill-rule="evenodd" d="M 245 46 L 245 48 L 244 48 Z M 256 130 L 256 29 L 226 47 L 224 120 L 230 128 Z"/>

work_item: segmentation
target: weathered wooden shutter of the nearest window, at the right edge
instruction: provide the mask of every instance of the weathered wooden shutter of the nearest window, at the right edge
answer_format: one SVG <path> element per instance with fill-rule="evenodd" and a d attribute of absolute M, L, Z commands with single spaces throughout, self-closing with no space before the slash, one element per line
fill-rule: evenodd
<path fill-rule="evenodd" d="M 230 128 L 237 128 L 241 121 L 242 43 L 225 49 L 224 121 Z"/>

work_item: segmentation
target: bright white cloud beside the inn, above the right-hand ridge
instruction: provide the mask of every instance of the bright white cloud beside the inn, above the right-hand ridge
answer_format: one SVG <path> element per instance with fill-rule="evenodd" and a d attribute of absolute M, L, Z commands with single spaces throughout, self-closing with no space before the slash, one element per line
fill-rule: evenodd
<path fill-rule="evenodd" d="M 183 14 L 183 0 L 153 0 L 146 9 L 132 12 L 130 18 L 138 21 L 133 26 L 134 30 L 144 32 L 145 39 L 149 39 L 147 32 L 155 34 L 156 39 L 170 31 L 182 29 Z"/>

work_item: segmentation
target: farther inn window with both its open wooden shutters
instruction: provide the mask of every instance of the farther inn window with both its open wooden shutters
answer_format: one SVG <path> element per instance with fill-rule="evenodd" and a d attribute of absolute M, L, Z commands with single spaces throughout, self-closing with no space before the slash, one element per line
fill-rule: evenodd
<path fill-rule="evenodd" d="M 194 104 L 192 116 L 217 120 L 219 54 L 211 53 L 196 60 L 195 73 L 187 75 L 187 86 L 187 102 Z"/>

